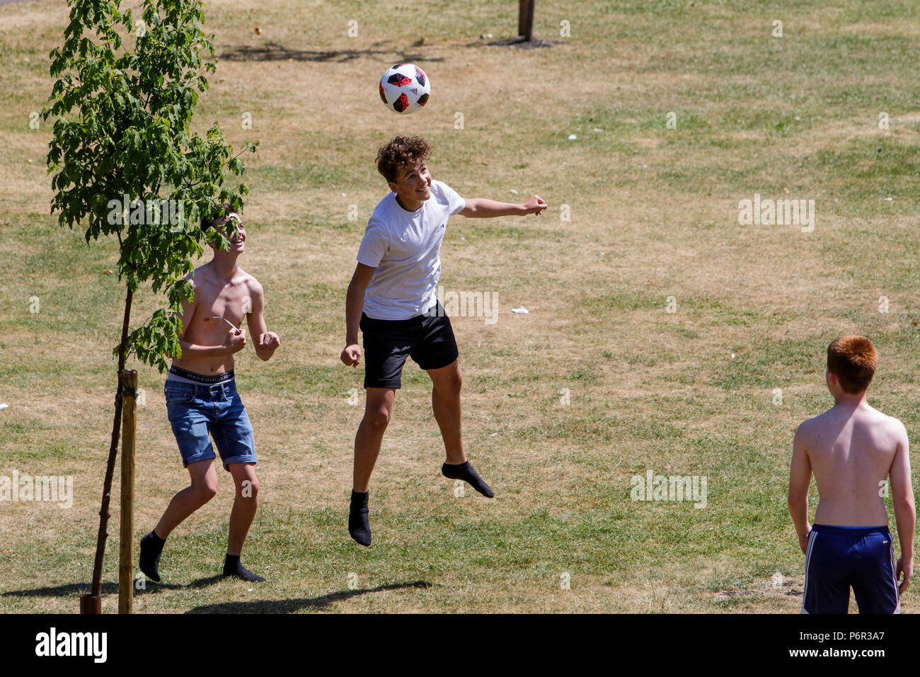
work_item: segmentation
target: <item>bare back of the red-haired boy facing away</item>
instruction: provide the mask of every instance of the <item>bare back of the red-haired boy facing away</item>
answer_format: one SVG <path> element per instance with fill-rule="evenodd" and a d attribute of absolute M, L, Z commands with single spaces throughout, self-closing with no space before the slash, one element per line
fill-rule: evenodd
<path fill-rule="evenodd" d="M 885 480 L 903 425 L 868 403 L 834 406 L 799 428 L 818 484 L 817 524 L 869 527 L 888 524 Z"/>

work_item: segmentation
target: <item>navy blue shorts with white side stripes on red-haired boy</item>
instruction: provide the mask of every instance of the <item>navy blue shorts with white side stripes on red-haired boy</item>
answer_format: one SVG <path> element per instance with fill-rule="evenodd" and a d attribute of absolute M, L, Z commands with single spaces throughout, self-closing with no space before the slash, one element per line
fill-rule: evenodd
<path fill-rule="evenodd" d="M 801 613 L 846 613 L 850 587 L 859 613 L 901 613 L 888 527 L 811 525 Z"/>

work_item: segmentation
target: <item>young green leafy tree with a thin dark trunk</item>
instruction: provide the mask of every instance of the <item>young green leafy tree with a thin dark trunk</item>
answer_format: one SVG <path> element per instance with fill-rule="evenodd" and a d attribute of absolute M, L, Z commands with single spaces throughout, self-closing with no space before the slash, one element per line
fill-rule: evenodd
<path fill-rule="evenodd" d="M 183 299 L 191 300 L 184 276 L 203 251 L 201 216 L 214 216 L 223 203 L 240 210 L 248 193 L 245 183 L 224 186 L 225 169 L 240 175 L 244 168 L 218 124 L 203 138 L 190 131 L 199 92 L 208 90 L 202 72 L 215 70 L 213 35 L 202 29 L 200 0 L 144 0 L 136 21 L 130 9 L 121 11 L 121 0 L 69 5 L 63 46 L 51 53 L 51 75 L 60 79 L 42 111 L 45 120 L 56 118 L 48 153 L 52 214 L 61 227 L 85 227 L 87 243 L 118 239 L 118 279 L 126 286 L 121 342 L 113 350 L 118 375 L 132 352 L 162 373 L 167 358 L 179 354 L 177 313 Z M 211 60 L 202 63 L 200 53 Z M 229 230 L 232 237 L 236 227 Z M 220 233 L 209 237 L 229 248 Z M 166 291 L 167 305 L 130 331 L 132 296 L 148 283 L 157 294 Z M 119 378 L 93 566 L 97 599 L 121 399 Z"/>

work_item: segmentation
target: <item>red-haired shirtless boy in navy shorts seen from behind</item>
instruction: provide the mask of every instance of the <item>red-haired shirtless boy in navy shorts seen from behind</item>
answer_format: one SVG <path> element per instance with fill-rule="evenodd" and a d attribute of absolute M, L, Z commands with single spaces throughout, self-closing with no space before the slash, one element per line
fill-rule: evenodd
<path fill-rule="evenodd" d="M 805 553 L 801 613 L 846 613 L 851 586 L 859 613 L 901 613 L 901 594 L 911 582 L 916 512 L 907 430 L 866 402 L 877 361 L 863 336 L 830 344 L 825 379 L 834 406 L 799 426 L 792 443 L 789 512 Z M 812 473 L 818 509 L 810 526 Z M 886 478 L 901 543 L 897 565 Z"/>

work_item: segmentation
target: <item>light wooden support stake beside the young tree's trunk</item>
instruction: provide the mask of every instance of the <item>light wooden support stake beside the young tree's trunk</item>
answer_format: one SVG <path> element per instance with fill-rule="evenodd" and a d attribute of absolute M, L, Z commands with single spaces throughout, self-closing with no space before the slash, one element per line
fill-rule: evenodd
<path fill-rule="evenodd" d="M 118 613 L 131 613 L 134 599 L 134 442 L 137 431 L 137 371 L 121 372 L 121 548 Z"/>

